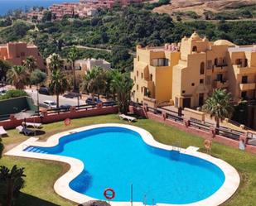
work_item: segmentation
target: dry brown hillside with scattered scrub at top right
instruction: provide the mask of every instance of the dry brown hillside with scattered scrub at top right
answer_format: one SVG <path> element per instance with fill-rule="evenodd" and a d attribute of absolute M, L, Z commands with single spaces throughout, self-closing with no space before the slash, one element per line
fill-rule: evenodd
<path fill-rule="evenodd" d="M 171 0 L 153 12 L 184 17 L 184 20 L 205 19 L 205 14 L 209 20 L 254 19 L 256 4 L 255 0 Z"/>

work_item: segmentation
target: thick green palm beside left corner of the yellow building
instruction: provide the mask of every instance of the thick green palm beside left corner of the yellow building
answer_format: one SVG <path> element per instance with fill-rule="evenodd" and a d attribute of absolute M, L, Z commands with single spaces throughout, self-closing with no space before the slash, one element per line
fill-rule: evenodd
<path fill-rule="evenodd" d="M 111 87 L 117 92 L 120 113 L 126 114 L 130 103 L 131 90 L 133 89 L 133 79 L 130 78 L 128 73 L 116 72 L 113 75 Z"/>

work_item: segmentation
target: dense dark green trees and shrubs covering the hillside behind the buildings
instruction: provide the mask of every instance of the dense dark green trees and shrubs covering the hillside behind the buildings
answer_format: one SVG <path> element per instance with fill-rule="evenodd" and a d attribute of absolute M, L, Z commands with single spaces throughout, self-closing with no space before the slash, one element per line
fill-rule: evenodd
<path fill-rule="evenodd" d="M 195 15 L 188 12 L 186 15 Z M 195 16 L 196 17 L 196 16 Z M 110 55 L 106 51 L 80 51 L 83 57 L 102 57 L 110 60 L 114 68 L 131 67 L 133 57 L 128 52 L 136 45 L 162 46 L 165 42 L 181 41 L 182 36 L 191 36 L 198 31 L 210 41 L 226 39 L 238 45 L 256 42 L 256 23 L 253 21 L 218 22 L 194 21 L 173 22 L 167 14 L 157 14 L 143 9 L 143 5 L 133 7 L 115 7 L 100 11 L 97 16 L 86 19 L 64 18 L 60 22 L 45 22 L 34 26 L 16 22 L 13 26 L 0 31 L 0 43 L 7 41 L 33 42 L 46 58 L 52 53 L 66 54 L 63 47 L 89 46 L 109 50 L 121 49 Z M 123 58 L 123 59 L 120 59 Z"/>

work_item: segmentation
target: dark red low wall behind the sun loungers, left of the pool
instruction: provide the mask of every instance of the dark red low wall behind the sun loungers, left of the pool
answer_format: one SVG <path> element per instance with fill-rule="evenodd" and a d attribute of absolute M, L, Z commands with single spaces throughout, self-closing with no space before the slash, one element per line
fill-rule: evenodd
<path fill-rule="evenodd" d="M 111 113 L 118 113 L 118 107 L 96 107 L 96 108 L 88 108 L 88 109 L 81 109 L 75 110 L 75 107 L 71 107 L 69 112 L 65 113 L 49 113 L 43 112 L 41 117 L 29 117 L 27 118 L 27 122 L 41 122 L 41 123 L 51 123 L 51 122 L 58 122 L 61 120 L 65 120 L 66 118 L 79 118 L 79 117 L 91 117 L 91 116 L 98 116 L 98 115 L 105 115 Z M 4 127 L 5 129 L 13 129 L 17 126 L 20 126 L 24 120 L 17 119 L 13 115 L 10 116 L 10 119 L 6 121 L 0 122 L 0 126 Z"/>

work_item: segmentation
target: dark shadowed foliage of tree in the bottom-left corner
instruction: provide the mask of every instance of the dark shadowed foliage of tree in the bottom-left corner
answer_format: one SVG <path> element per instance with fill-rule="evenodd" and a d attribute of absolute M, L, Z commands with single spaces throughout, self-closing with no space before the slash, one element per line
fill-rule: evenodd
<path fill-rule="evenodd" d="M 26 177 L 24 168 L 17 168 L 17 165 L 9 170 L 6 166 L 0 166 L 0 195 L 6 206 L 13 205 L 13 199 L 17 199 L 20 189 L 24 187 Z"/>

